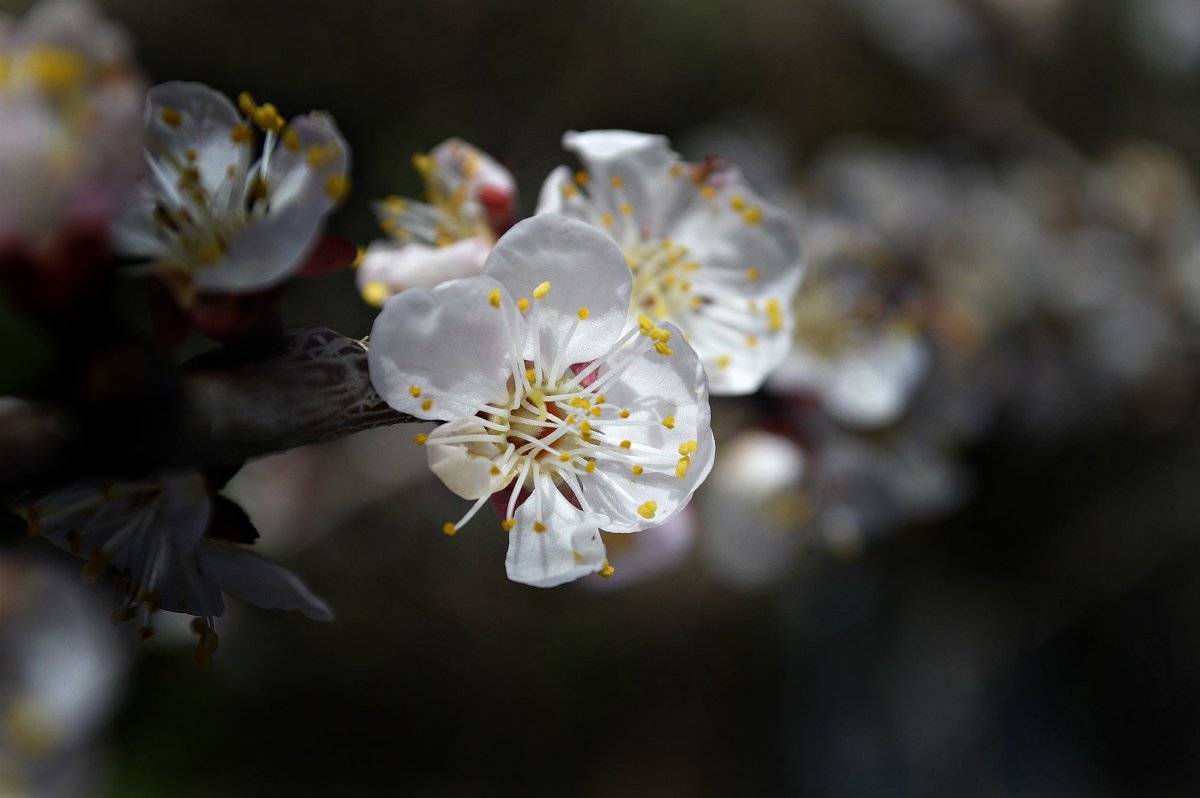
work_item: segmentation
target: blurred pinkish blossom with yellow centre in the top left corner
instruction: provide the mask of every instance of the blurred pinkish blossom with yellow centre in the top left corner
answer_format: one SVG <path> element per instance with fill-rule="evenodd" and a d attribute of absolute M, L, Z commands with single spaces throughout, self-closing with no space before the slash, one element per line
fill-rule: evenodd
<path fill-rule="evenodd" d="M 103 235 L 140 163 L 143 91 L 90 2 L 0 16 L 0 257 Z"/>

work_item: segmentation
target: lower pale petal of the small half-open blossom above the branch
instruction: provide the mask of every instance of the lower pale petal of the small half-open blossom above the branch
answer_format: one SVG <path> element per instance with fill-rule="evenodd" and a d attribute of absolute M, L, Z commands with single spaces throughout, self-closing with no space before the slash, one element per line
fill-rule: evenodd
<path fill-rule="evenodd" d="M 491 251 L 491 244 L 478 236 L 444 247 L 372 241 L 356 274 L 359 289 L 382 283 L 390 293 L 398 294 L 408 288 L 433 288 L 460 277 L 473 277 Z"/>

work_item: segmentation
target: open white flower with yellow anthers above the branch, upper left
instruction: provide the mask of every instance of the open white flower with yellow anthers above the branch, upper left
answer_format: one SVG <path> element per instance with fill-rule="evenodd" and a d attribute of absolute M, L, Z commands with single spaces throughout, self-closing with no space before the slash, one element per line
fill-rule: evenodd
<path fill-rule="evenodd" d="M 284 122 L 248 94 L 234 107 L 174 82 L 149 91 L 145 134 L 146 174 L 115 245 L 151 259 L 185 308 L 198 294 L 260 292 L 296 274 L 349 188 L 349 151 L 323 113 Z"/>

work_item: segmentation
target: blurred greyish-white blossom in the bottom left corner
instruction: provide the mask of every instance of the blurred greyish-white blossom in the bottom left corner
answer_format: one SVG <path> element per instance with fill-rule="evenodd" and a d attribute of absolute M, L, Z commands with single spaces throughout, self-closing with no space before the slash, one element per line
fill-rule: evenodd
<path fill-rule="evenodd" d="M 98 734 L 130 649 L 77 577 L 0 557 L 0 794 L 70 798 L 103 786 Z"/>

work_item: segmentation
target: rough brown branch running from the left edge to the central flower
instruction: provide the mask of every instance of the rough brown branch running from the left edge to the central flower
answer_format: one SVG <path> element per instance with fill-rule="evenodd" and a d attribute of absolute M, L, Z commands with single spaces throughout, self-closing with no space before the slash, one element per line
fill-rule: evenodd
<path fill-rule="evenodd" d="M 144 468 L 234 468 L 258 457 L 416 419 L 392 410 L 371 385 L 367 348 L 324 328 L 288 330 L 270 356 L 202 359 L 184 370 L 184 425 L 169 446 L 146 446 Z M 130 433 L 137 438 L 137 431 Z M 0 496 L 108 476 L 108 456 L 61 407 L 0 408 Z"/>

